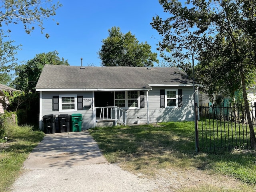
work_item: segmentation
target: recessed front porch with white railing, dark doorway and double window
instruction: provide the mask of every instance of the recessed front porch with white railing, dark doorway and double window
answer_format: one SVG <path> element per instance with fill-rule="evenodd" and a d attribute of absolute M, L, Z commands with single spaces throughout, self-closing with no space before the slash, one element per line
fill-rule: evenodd
<path fill-rule="evenodd" d="M 144 103 L 145 102 L 145 103 Z M 149 123 L 148 91 L 94 91 L 94 126 Z"/>

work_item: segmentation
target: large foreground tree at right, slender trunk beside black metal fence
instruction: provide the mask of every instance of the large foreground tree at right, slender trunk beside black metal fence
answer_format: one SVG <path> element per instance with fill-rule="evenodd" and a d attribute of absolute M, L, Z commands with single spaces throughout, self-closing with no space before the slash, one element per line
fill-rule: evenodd
<path fill-rule="evenodd" d="M 184 5 L 177 0 L 159 2 L 171 16 L 166 20 L 156 16 L 151 23 L 163 37 L 158 49 L 170 53 L 181 65 L 196 53 L 202 79 L 210 77 L 216 83 L 214 87 L 202 81 L 209 85 L 209 93 L 226 90 L 232 95 L 242 89 L 251 148 L 256 150 L 246 92 L 256 77 L 255 0 L 187 0 Z"/>

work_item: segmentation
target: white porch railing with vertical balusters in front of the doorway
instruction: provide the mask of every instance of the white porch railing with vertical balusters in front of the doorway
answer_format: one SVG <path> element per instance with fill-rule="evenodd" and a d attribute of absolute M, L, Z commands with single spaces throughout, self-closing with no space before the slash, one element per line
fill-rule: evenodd
<path fill-rule="evenodd" d="M 115 121 L 115 126 L 117 126 L 117 122 L 126 125 L 127 112 L 125 110 L 122 110 L 117 106 L 95 108 L 96 110 L 100 109 L 100 119 L 98 119 L 97 121 Z"/>

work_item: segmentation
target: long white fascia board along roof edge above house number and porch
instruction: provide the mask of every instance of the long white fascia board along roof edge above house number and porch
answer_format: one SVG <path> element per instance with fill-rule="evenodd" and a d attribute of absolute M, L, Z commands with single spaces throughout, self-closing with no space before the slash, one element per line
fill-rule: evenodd
<path fill-rule="evenodd" d="M 94 88 L 94 89 L 86 89 L 86 88 L 80 88 L 80 89 L 36 89 L 36 91 L 151 91 L 150 89 L 104 89 L 104 88 Z"/>

